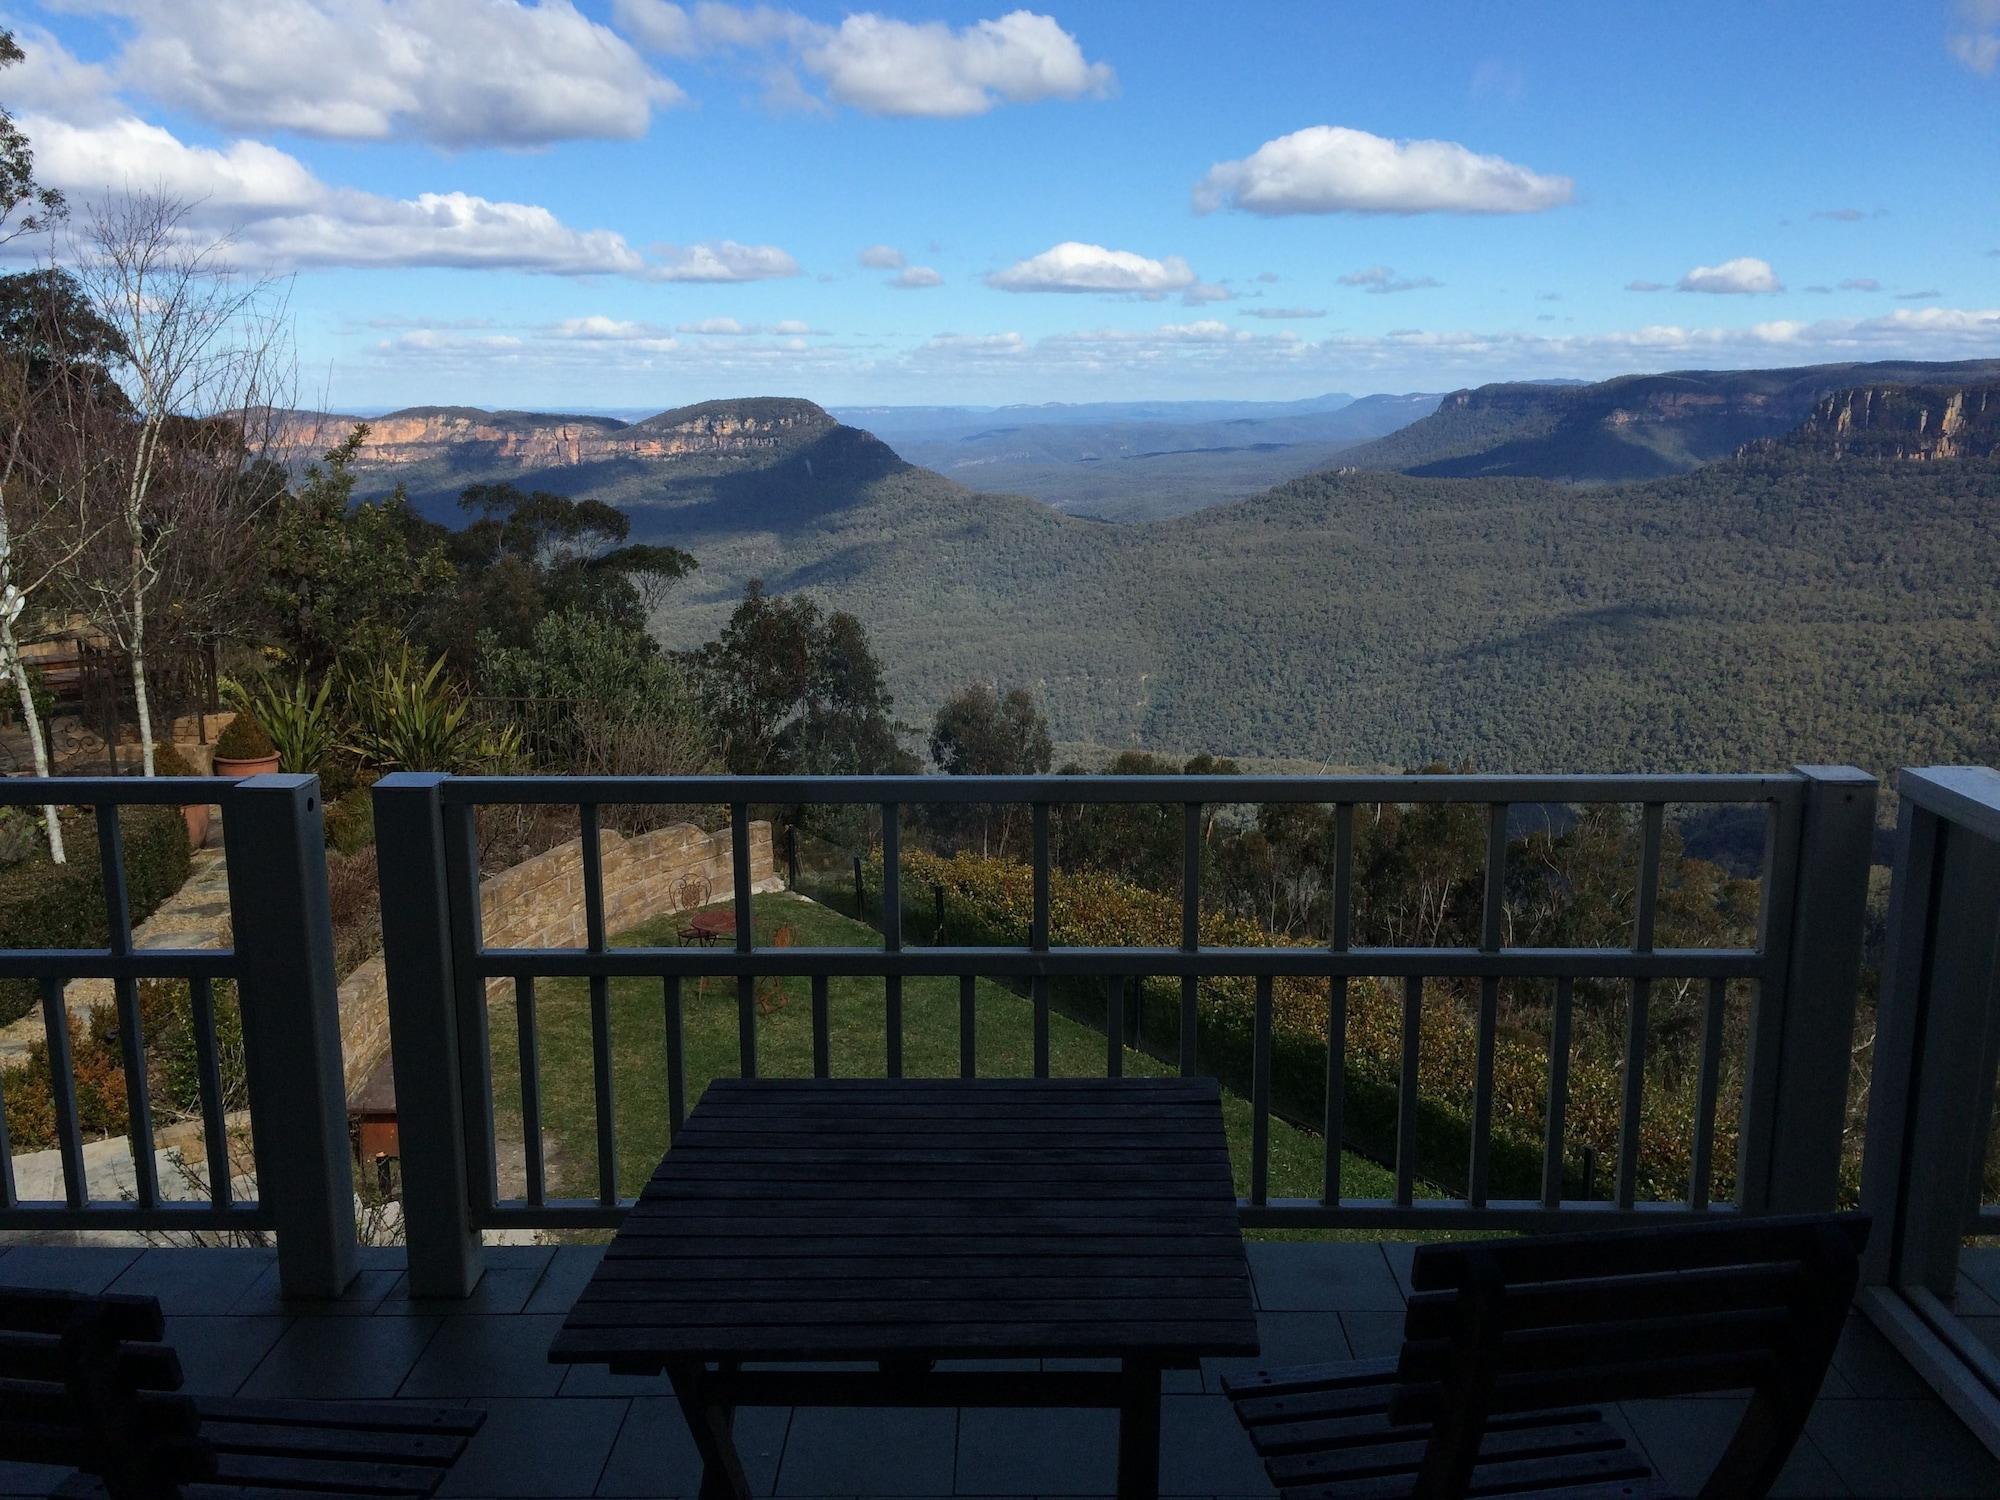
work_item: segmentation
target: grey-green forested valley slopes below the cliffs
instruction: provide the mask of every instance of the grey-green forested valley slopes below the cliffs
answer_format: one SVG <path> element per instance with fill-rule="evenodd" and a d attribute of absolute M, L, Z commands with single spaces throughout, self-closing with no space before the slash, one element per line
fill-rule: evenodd
<path fill-rule="evenodd" d="M 1488 770 L 2000 754 L 2000 464 L 1764 454 L 1642 486 L 1332 472 L 1104 526 L 900 464 L 648 508 L 714 634 L 854 610 L 898 708 L 1032 684 L 1058 738 Z"/>

